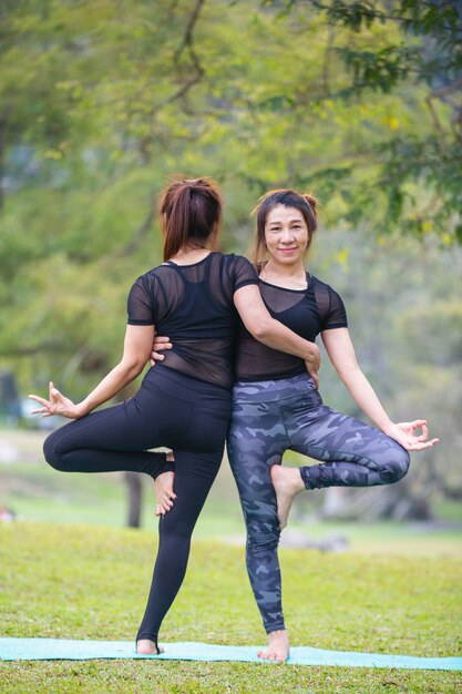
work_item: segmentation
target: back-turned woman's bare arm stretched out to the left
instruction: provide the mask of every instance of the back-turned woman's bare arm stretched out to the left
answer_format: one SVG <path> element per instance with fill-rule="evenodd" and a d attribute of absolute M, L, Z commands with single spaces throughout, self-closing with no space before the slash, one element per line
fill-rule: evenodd
<path fill-rule="evenodd" d="M 99 407 L 99 405 L 106 402 L 117 395 L 117 392 L 141 374 L 150 357 L 153 337 L 153 325 L 129 325 L 126 327 L 121 361 L 84 400 L 74 405 L 74 402 L 63 396 L 51 381 L 49 400 L 35 395 L 29 396 L 32 400 L 35 400 L 42 406 L 40 409 L 33 410 L 33 412 L 42 415 L 42 417 L 50 417 L 51 415 L 61 415 L 70 419 L 84 417 L 84 415 L 91 412 Z"/>

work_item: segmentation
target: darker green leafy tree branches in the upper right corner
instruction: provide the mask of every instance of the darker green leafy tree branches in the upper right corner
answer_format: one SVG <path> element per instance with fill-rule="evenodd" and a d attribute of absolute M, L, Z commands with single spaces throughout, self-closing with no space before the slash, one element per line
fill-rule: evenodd
<path fill-rule="evenodd" d="M 265 2 L 280 7 L 280 2 Z M 318 169 L 314 180 L 337 178 L 346 217 L 370 218 L 378 200 L 387 202 L 381 231 L 424 236 L 440 234 L 443 244 L 462 242 L 462 6 L 452 0 L 287 0 L 289 13 L 310 32 L 314 13 L 329 25 L 325 51 L 324 101 L 358 103 L 367 95 L 424 105 L 428 125 L 405 127 L 390 113 L 372 144 L 377 171 L 367 185 L 350 185 L 353 166 Z M 335 79 L 342 63 L 348 85 Z M 422 113 L 421 118 L 425 118 Z M 355 161 L 356 159 L 356 161 Z M 374 217 L 376 218 L 376 217 Z"/>

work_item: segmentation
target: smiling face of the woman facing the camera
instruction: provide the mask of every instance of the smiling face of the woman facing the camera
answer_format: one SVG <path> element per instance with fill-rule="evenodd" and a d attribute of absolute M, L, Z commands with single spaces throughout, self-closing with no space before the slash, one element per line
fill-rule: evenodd
<path fill-rule="evenodd" d="M 283 265 L 302 263 L 308 246 L 308 227 L 296 207 L 277 205 L 266 218 L 265 242 L 269 258 Z"/>

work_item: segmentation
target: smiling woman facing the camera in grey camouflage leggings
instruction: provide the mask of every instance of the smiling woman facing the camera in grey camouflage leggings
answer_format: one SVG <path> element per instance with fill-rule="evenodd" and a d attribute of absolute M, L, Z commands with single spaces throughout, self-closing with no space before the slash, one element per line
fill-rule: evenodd
<path fill-rule="evenodd" d="M 438 439 L 428 440 L 424 420 L 389 419 L 356 360 L 339 294 L 306 271 L 318 224 L 315 197 L 270 191 L 254 212 L 253 261 L 270 315 L 309 341 L 321 335 L 341 380 L 377 427 L 326 407 L 317 378 L 307 372 L 302 359 L 259 344 L 245 322 L 240 324 L 228 457 L 247 525 L 247 570 L 268 634 L 268 646 L 259 656 L 285 661 L 289 642 L 277 547 L 294 497 L 324 487 L 398 482 L 409 468 L 408 451 L 433 446 Z M 155 349 L 162 347 L 157 340 Z M 153 353 L 153 358 L 162 357 Z M 320 463 L 283 467 L 286 450 Z M 161 500 L 157 512 L 166 511 Z"/>

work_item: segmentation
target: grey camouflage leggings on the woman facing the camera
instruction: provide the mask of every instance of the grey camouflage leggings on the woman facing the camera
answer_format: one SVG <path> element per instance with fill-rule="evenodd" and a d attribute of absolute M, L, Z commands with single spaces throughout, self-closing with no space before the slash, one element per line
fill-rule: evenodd
<path fill-rule="evenodd" d="M 247 525 L 247 571 L 269 633 L 285 629 L 271 466 L 294 450 L 325 461 L 299 468 L 307 489 L 373 487 L 404 477 L 409 453 L 377 429 L 324 406 L 308 375 L 238 382 L 233 395 L 228 457 Z"/>

